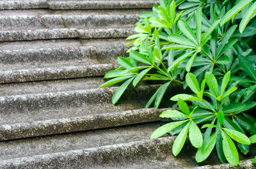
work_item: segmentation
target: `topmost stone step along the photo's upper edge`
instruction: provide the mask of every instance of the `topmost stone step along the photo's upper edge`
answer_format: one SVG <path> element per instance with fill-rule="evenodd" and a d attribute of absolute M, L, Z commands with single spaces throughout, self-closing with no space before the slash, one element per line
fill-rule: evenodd
<path fill-rule="evenodd" d="M 157 4 L 156 0 L 136 1 L 1 1 L 1 10 L 37 9 L 45 8 L 50 10 L 98 10 L 98 9 L 137 9 L 152 8 Z"/>

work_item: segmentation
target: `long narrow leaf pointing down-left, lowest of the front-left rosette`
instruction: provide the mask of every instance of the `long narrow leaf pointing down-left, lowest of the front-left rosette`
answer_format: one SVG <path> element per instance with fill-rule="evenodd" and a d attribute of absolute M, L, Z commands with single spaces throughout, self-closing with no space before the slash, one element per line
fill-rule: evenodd
<path fill-rule="evenodd" d="M 190 122 L 187 124 L 187 126 L 184 129 L 182 129 L 182 131 L 179 133 L 179 135 L 173 142 L 172 153 L 174 156 L 177 156 L 179 154 L 179 152 L 181 151 L 181 149 L 186 141 L 186 138 L 188 135 L 189 124 L 190 124 Z"/>

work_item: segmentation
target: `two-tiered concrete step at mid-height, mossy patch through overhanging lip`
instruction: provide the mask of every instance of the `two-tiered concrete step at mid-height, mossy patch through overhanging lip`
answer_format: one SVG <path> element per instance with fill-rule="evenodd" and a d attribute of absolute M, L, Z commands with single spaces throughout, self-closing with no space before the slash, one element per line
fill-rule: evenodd
<path fill-rule="evenodd" d="M 118 67 L 118 56 L 127 56 L 126 43 L 124 39 L 0 43 L 0 83 L 102 76 Z"/>

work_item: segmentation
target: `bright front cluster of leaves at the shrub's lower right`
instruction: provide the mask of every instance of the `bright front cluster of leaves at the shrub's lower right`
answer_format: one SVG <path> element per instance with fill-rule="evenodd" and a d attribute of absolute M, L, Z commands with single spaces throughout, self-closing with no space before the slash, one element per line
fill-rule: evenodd
<path fill-rule="evenodd" d="M 181 110 L 166 110 L 160 117 L 171 118 L 175 122 L 164 124 L 152 133 L 151 138 L 158 138 L 168 131 L 172 131 L 183 125 L 179 135 L 173 143 L 173 154 L 177 156 L 182 149 L 186 136 L 189 133 L 191 144 L 198 148 L 196 152 L 196 161 L 204 161 L 210 154 L 214 145 L 221 162 L 226 160 L 232 165 L 238 165 L 239 156 L 236 145 L 232 139 L 237 142 L 237 146 L 242 152 L 247 152 L 250 139 L 246 136 L 244 129 L 251 134 L 255 134 L 253 119 L 246 114 L 247 110 L 255 107 L 256 102 L 247 103 L 227 102 L 230 94 L 237 90 L 237 87 L 230 87 L 227 91 L 227 85 L 230 79 L 230 71 L 223 77 L 221 85 L 218 85 L 216 77 L 210 73 L 205 73 L 205 80 L 201 85 L 198 84 L 196 77 L 192 73 L 186 75 L 186 82 L 191 91 L 195 94 L 177 94 L 171 99 L 178 101 Z M 209 90 L 205 90 L 205 84 Z M 207 101 L 207 96 L 211 102 Z M 193 109 L 189 110 L 185 101 L 193 103 Z M 248 118 L 249 117 L 249 118 Z M 198 124 L 204 124 L 202 128 L 207 128 L 204 137 Z M 215 128 L 215 131 L 212 129 Z M 232 138 L 232 139 L 231 139 Z"/>

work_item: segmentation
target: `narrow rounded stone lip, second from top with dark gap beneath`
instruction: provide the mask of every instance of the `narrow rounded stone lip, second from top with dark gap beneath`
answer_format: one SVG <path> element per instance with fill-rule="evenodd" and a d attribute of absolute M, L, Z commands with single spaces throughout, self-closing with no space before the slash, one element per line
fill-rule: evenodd
<path fill-rule="evenodd" d="M 52 40 L 65 38 L 125 38 L 134 34 L 133 28 L 112 29 L 38 29 L 28 31 L 0 31 L 0 41 Z"/>

